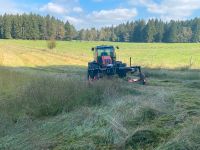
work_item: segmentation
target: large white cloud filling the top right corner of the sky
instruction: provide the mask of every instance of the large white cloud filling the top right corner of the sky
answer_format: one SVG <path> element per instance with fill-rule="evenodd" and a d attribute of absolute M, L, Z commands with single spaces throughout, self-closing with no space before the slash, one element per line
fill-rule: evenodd
<path fill-rule="evenodd" d="M 134 0 L 130 0 L 134 4 Z M 147 7 L 148 12 L 158 14 L 162 19 L 187 19 L 195 10 L 200 9 L 200 0 L 139 0 L 140 5 Z"/>

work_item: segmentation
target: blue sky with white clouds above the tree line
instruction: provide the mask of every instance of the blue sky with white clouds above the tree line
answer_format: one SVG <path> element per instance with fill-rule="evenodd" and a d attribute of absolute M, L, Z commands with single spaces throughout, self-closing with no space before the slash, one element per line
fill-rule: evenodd
<path fill-rule="evenodd" d="M 76 28 L 116 26 L 127 21 L 200 17 L 200 0 L 0 0 L 0 14 L 50 14 Z"/>

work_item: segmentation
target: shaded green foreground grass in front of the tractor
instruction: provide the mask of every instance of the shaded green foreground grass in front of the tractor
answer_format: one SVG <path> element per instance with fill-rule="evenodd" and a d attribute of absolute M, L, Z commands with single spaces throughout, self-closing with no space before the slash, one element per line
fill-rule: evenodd
<path fill-rule="evenodd" d="M 149 71 L 146 86 L 115 79 L 88 85 L 63 73 L 4 68 L 0 76 L 16 81 L 7 85 L 9 93 L 20 92 L 2 99 L 0 149 L 198 148 L 200 95 L 187 85 L 199 78 L 164 70 L 164 84 L 162 71 Z M 183 77 L 174 83 L 177 74 Z"/>

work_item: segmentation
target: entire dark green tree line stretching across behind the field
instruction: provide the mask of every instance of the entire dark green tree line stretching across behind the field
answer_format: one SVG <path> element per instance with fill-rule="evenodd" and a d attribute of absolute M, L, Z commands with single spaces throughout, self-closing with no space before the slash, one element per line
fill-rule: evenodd
<path fill-rule="evenodd" d="M 164 22 L 150 19 L 118 26 L 77 31 L 68 21 L 50 15 L 0 15 L 0 39 L 86 40 L 113 42 L 200 42 L 200 18 Z"/>

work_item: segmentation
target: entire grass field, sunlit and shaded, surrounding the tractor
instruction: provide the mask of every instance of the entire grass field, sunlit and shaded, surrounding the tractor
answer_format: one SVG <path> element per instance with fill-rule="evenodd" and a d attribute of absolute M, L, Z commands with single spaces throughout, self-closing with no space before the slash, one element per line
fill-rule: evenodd
<path fill-rule="evenodd" d="M 88 84 L 101 44 L 148 84 Z M 199 69 L 199 44 L 0 40 L 0 149 L 200 149 Z"/>

